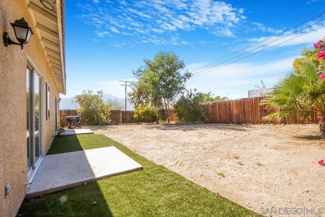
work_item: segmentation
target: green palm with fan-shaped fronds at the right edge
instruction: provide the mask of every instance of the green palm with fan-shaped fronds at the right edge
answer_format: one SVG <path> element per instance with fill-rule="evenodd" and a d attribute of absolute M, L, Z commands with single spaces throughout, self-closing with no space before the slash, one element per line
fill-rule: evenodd
<path fill-rule="evenodd" d="M 300 117 L 306 118 L 315 109 L 320 130 L 325 132 L 325 79 L 318 79 L 311 61 L 287 72 L 275 88 L 277 91 L 263 101 L 267 108 L 274 111 L 264 120 L 289 120 L 297 112 Z"/>

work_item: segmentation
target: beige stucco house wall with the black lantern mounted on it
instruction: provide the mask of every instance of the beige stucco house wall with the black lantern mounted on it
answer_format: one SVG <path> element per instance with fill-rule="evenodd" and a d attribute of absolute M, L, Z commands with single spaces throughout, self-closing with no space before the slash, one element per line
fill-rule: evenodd
<path fill-rule="evenodd" d="M 0 42 L 0 216 L 15 216 L 27 187 L 26 148 L 26 67 L 27 59 L 42 76 L 42 115 L 44 154 L 55 135 L 55 97 L 59 98 L 54 77 L 50 71 L 35 26 L 27 9 L 26 1 L 0 0 L 0 34 L 8 32 L 16 41 L 10 22 L 24 17 L 33 35 L 24 49 L 20 46 L 5 47 Z M 45 82 L 50 86 L 50 120 L 45 121 Z M 11 193 L 5 198 L 5 184 Z"/>

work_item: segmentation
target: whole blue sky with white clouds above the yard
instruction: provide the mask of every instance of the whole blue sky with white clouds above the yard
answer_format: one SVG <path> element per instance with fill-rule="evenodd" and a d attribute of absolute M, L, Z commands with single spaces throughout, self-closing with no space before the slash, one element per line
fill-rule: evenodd
<path fill-rule="evenodd" d="M 135 80 L 133 70 L 159 51 L 174 52 L 196 73 L 187 88 L 247 98 L 261 80 L 276 84 L 304 46 L 325 36 L 324 13 L 325 1 L 316 0 L 66 0 L 61 98 L 88 89 L 124 98 L 119 80 Z"/>

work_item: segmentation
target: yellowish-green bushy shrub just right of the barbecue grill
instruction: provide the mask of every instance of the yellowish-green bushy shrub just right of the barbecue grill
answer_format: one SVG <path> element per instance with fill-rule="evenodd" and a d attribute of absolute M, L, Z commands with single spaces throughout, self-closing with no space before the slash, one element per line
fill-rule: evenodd
<path fill-rule="evenodd" d="M 103 102 L 103 91 L 97 91 L 93 94 L 92 90 L 84 90 L 81 95 L 76 96 L 76 103 L 79 104 L 78 113 L 86 122 L 93 125 L 105 125 L 110 122 L 111 111 L 108 105 Z"/>

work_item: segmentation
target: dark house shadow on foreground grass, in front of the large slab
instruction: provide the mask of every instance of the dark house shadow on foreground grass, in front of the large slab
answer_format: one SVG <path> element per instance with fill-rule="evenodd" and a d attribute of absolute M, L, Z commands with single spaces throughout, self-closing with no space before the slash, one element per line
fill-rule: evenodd
<path fill-rule="evenodd" d="M 25 199 L 17 216 L 90 216 L 90 213 L 91 216 L 113 216 L 97 182 Z"/>

